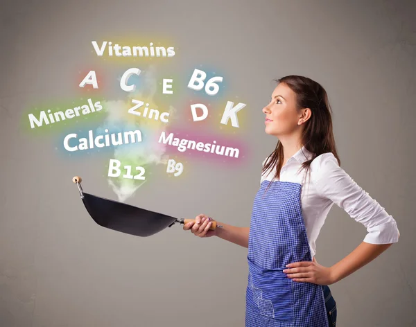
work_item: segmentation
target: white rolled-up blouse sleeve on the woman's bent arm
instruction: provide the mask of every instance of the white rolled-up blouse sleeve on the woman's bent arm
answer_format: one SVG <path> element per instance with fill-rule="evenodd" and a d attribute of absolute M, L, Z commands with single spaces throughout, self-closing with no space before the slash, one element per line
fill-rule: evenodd
<path fill-rule="evenodd" d="M 365 226 L 364 242 L 398 242 L 400 233 L 395 219 L 340 168 L 333 153 L 321 154 L 314 161 L 317 162 L 312 178 L 318 195 L 331 200 Z"/>

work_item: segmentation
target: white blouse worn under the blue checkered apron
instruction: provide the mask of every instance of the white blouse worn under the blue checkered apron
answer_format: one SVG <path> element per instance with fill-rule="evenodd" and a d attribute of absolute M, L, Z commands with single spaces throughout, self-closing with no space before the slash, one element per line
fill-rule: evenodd
<path fill-rule="evenodd" d="M 302 147 L 288 159 L 281 168 L 281 182 L 304 183 L 301 193 L 302 215 L 308 235 L 311 256 L 315 256 L 315 242 L 329 210 L 335 203 L 344 209 L 351 218 L 361 222 L 367 229 L 364 242 L 372 244 L 390 244 L 398 242 L 399 229 L 392 218 L 376 200 L 372 199 L 343 168 L 332 152 L 316 157 L 305 175 L 305 169 L 299 170 L 304 161 L 311 159 L 311 152 Z M 266 159 L 263 161 L 263 165 Z M 273 179 L 276 170 L 268 170 L 261 176 L 264 180 Z M 305 179 L 306 178 L 306 179 Z"/>

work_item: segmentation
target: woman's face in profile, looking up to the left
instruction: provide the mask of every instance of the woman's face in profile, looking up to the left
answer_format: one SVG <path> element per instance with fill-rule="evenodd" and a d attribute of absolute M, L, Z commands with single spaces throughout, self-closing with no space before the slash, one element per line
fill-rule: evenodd
<path fill-rule="evenodd" d="M 302 124 L 302 113 L 296 108 L 296 94 L 284 83 L 279 83 L 272 93 L 270 103 L 263 108 L 266 114 L 265 132 L 275 136 L 293 134 Z"/>

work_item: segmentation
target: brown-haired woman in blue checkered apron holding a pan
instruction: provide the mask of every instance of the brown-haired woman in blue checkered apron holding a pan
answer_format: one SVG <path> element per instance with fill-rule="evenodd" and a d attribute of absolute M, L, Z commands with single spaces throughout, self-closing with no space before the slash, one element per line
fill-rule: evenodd
<path fill-rule="evenodd" d="M 391 215 L 340 168 L 324 88 L 303 76 L 279 80 L 266 114 L 275 150 L 263 161 L 250 228 L 209 230 L 198 215 L 184 225 L 196 236 L 218 236 L 248 247 L 245 326 L 336 326 L 328 285 L 370 263 L 399 240 Z M 333 203 L 367 228 L 363 242 L 331 267 L 316 262 L 315 241 Z"/>

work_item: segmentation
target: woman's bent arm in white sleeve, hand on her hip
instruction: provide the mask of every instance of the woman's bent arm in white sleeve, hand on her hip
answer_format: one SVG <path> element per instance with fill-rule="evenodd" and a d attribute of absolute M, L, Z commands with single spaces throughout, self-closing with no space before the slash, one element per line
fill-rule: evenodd
<path fill-rule="evenodd" d="M 294 281 L 329 285 L 370 263 L 392 243 L 398 242 L 400 233 L 395 219 L 338 166 L 332 153 L 321 154 L 312 165 L 313 183 L 318 195 L 337 204 L 367 229 L 363 242 L 331 267 L 323 267 L 313 260 L 291 263 L 284 270 Z"/>

